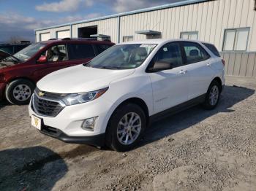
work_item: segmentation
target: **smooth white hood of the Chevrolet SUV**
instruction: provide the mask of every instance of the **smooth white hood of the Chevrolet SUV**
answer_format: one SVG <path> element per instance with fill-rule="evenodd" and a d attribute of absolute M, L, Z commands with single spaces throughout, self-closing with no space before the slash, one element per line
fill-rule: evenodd
<path fill-rule="evenodd" d="M 48 74 L 37 82 L 37 87 L 50 93 L 84 93 L 108 87 L 113 80 L 126 77 L 134 71 L 94 69 L 79 65 Z"/>

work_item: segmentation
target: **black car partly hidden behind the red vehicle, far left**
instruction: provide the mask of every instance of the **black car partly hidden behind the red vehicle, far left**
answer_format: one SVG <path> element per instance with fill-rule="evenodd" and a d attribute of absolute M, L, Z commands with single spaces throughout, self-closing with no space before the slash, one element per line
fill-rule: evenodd
<path fill-rule="evenodd" d="M 29 41 L 20 41 L 19 43 L 4 43 L 0 44 L 0 50 L 7 52 L 7 54 L 4 54 L 4 52 L 0 53 L 0 61 L 4 58 L 7 58 L 9 55 L 14 55 L 16 52 L 19 52 L 24 47 L 29 46 L 31 43 Z"/>

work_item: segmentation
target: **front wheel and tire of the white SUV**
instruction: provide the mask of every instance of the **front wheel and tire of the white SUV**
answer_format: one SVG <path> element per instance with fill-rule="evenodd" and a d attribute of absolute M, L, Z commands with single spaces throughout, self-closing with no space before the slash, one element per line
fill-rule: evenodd
<path fill-rule="evenodd" d="M 126 116 L 128 120 L 126 120 Z M 130 119 L 134 120 L 134 122 L 132 123 L 129 121 Z M 136 104 L 125 104 L 123 106 L 119 106 L 110 118 L 110 123 L 107 129 L 106 144 L 117 152 L 129 151 L 138 144 L 145 128 L 146 115 L 140 106 Z M 132 140 L 131 137 L 134 140 Z"/>

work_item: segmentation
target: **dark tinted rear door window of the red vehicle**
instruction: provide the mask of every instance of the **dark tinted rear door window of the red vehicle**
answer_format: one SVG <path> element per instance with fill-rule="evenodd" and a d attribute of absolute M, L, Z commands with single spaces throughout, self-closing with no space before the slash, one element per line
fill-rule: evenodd
<path fill-rule="evenodd" d="M 68 44 L 69 60 L 94 58 L 95 52 L 91 44 Z"/>

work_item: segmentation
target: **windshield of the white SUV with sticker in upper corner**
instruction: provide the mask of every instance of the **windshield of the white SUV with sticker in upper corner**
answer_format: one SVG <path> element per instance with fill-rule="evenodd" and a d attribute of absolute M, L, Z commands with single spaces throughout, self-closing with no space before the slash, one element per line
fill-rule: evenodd
<path fill-rule="evenodd" d="M 86 66 L 98 69 L 135 69 L 140 66 L 157 44 L 120 44 L 110 47 Z"/>

